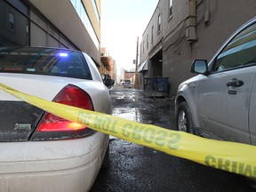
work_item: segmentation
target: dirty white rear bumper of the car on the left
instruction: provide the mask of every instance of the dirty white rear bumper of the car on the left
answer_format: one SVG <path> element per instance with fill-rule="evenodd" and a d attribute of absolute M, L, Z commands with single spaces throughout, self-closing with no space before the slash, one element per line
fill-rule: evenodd
<path fill-rule="evenodd" d="M 0 191 L 88 191 L 102 164 L 108 135 L 77 140 L 0 143 Z"/>

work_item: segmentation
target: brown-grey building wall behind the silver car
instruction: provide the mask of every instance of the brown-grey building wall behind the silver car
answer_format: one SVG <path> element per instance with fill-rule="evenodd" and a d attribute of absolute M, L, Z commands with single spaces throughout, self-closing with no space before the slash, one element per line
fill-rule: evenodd
<path fill-rule="evenodd" d="M 210 60 L 228 36 L 255 14 L 255 0 L 159 0 L 140 43 L 139 85 L 168 77 L 169 97 L 193 76 L 195 59 Z"/>

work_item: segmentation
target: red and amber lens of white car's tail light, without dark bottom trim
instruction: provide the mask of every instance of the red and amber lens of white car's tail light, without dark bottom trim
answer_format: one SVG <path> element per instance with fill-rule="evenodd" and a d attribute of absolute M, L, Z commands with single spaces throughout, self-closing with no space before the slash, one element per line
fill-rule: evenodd
<path fill-rule="evenodd" d="M 52 100 L 65 105 L 73 106 L 76 108 L 84 108 L 93 110 L 91 97 L 84 90 L 68 84 L 64 87 L 57 96 Z M 46 113 L 38 125 L 37 132 L 66 132 L 83 130 L 86 127 L 82 124 L 68 121 L 59 116 L 54 116 Z"/>

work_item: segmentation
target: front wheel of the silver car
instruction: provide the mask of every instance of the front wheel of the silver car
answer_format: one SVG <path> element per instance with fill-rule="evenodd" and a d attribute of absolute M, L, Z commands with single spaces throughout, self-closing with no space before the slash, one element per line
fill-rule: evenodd
<path fill-rule="evenodd" d="M 187 102 L 183 101 L 177 108 L 177 128 L 181 132 L 193 132 L 193 121 Z"/>

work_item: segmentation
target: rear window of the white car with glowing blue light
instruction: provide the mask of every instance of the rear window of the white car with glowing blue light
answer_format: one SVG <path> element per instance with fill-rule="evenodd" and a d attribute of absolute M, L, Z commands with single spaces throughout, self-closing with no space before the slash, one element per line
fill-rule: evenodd
<path fill-rule="evenodd" d="M 92 79 L 82 52 L 55 48 L 1 48 L 0 72 Z"/>

